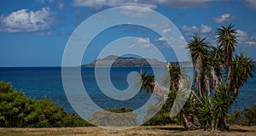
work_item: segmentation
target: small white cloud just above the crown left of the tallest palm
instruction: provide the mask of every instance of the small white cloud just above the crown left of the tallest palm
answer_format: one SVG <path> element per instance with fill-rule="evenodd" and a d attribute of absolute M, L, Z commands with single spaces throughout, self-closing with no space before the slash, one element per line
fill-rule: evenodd
<path fill-rule="evenodd" d="M 200 27 L 197 26 L 183 26 L 182 31 L 185 32 L 185 35 L 194 35 L 195 33 L 200 33 L 200 34 L 206 34 L 210 33 L 212 31 L 211 26 L 206 26 L 206 25 L 201 25 Z"/>

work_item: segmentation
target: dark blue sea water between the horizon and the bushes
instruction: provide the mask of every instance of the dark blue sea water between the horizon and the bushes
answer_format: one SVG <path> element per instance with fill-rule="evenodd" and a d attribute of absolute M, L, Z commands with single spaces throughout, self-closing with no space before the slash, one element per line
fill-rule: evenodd
<path fill-rule="evenodd" d="M 152 71 L 150 68 L 143 68 L 143 70 L 148 72 Z M 126 78 L 131 71 L 139 72 L 140 68 L 112 68 L 111 81 L 114 87 L 119 90 L 128 88 Z M 253 72 L 255 75 L 256 71 Z M 126 108 L 136 110 L 151 96 L 151 94 L 139 92 L 134 98 L 125 101 L 109 99 L 108 96 L 102 94 L 100 88 L 97 87 L 94 68 L 82 68 L 81 73 L 84 88 L 86 88 L 90 98 L 92 98 L 97 105 L 102 107 L 102 109 L 125 106 Z M 105 77 L 102 76 L 100 78 L 104 79 Z M 25 92 L 27 97 L 42 99 L 44 96 L 47 96 L 59 105 L 64 106 L 66 111 L 73 111 L 62 86 L 61 67 L 2 67 L 0 68 L 0 80 L 11 82 L 14 88 L 21 89 Z M 240 94 L 232 109 L 241 111 L 244 105 L 249 107 L 253 103 L 256 103 L 255 90 L 256 79 L 250 78 L 248 82 L 245 83 L 244 87 L 241 88 Z"/>

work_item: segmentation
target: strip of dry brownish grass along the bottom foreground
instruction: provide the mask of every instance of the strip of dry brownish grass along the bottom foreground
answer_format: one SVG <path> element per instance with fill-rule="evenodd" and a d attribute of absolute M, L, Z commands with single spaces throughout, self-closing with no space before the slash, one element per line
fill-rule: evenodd
<path fill-rule="evenodd" d="M 100 127 L 61 127 L 61 128 L 0 128 L 0 135 L 5 136 L 43 136 L 43 135 L 68 135 L 68 136 L 119 136 L 119 135 L 248 135 L 256 136 L 256 127 L 232 126 L 230 132 L 219 131 L 186 131 L 181 126 L 150 126 L 134 127 L 126 130 L 108 130 Z"/>

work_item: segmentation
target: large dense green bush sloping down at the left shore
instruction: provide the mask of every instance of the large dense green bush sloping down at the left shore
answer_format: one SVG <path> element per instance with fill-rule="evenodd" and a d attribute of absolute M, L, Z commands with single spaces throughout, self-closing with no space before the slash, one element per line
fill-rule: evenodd
<path fill-rule="evenodd" d="M 0 127 L 81 127 L 90 126 L 73 113 L 47 98 L 30 99 L 10 83 L 0 82 Z"/>

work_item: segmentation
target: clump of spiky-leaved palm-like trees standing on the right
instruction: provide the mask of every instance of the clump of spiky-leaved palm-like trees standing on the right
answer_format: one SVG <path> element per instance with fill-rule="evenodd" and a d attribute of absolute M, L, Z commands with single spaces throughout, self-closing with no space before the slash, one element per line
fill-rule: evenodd
<path fill-rule="evenodd" d="M 191 94 L 185 105 L 178 104 L 175 99 L 178 99 L 177 92 L 183 91 L 181 87 L 188 86 L 187 77 L 181 75 L 179 65 L 167 65 L 164 82 L 170 86 L 170 89 L 168 96 L 164 98 L 166 99 L 164 107 L 167 111 L 171 111 L 173 105 L 183 106 L 177 117 L 187 129 L 203 127 L 205 130 L 229 130 L 226 125 L 228 111 L 244 82 L 247 82 L 248 77 L 253 77 L 253 60 L 245 53 L 236 53 L 238 42 L 233 27 L 234 25 L 230 24 L 218 28 L 216 46 L 206 42 L 206 37 L 201 38 L 196 34 L 189 42 L 189 54 L 194 65 L 195 77 Z M 140 80 L 147 82 L 142 83 L 142 89 L 147 93 L 148 88 L 152 88 L 155 84 L 154 76 L 147 75 L 144 71 L 141 72 Z M 158 89 L 154 88 L 151 91 L 159 92 Z M 247 115 L 247 112 L 243 115 L 239 112 L 235 113 L 235 116 L 245 116 L 253 121 L 253 114 Z"/>

